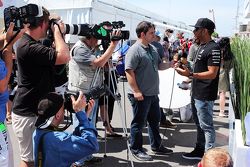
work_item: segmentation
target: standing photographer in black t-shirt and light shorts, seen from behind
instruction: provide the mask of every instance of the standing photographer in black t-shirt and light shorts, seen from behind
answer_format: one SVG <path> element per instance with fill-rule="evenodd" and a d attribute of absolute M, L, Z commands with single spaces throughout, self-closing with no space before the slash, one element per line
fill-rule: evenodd
<path fill-rule="evenodd" d="M 49 11 L 40 8 L 43 16 L 34 17 L 35 21 L 30 23 L 18 41 L 16 50 L 18 88 L 13 102 L 12 125 L 19 143 L 21 167 L 33 166 L 32 133 L 39 99 L 55 90 L 55 65 L 66 64 L 70 59 L 68 46 L 61 34 L 64 32 L 63 23 L 50 26 Z M 49 28 L 53 32 L 55 49 L 38 42 L 46 37 Z"/>

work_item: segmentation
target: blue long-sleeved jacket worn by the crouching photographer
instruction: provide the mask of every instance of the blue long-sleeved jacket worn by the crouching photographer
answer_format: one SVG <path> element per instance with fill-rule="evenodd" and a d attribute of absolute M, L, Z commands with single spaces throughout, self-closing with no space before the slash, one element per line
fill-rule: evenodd
<path fill-rule="evenodd" d="M 72 133 L 47 131 L 36 129 L 33 133 L 33 151 L 35 166 L 38 166 L 38 145 L 43 137 L 43 162 L 44 167 L 69 167 L 72 163 L 96 153 L 99 150 L 97 132 L 89 122 L 85 112 L 77 112 L 79 125 Z"/>

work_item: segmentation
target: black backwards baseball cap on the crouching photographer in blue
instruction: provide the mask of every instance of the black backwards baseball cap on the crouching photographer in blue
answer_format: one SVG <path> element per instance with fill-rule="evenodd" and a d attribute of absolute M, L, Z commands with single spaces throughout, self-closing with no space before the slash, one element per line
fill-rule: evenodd
<path fill-rule="evenodd" d="M 50 92 L 45 95 L 38 104 L 38 118 L 35 126 L 40 129 L 47 128 L 51 124 L 56 113 L 62 107 L 63 102 L 62 95 L 55 92 Z"/>

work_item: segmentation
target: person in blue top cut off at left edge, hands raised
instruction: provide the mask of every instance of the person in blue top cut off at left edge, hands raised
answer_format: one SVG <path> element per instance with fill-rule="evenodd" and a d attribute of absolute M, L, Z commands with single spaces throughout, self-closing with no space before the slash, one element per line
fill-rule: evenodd
<path fill-rule="evenodd" d="M 0 58 L 0 166 L 11 167 L 13 164 L 12 157 L 12 146 L 9 140 L 9 135 L 7 132 L 7 127 L 5 125 L 6 118 L 6 102 L 9 99 L 8 93 L 8 83 L 10 75 L 12 72 L 12 47 L 13 44 L 23 35 L 25 29 L 11 41 L 14 37 L 13 32 L 14 24 L 11 23 L 7 33 L 0 36 L 0 48 L 1 48 L 1 58 Z M 2 50 L 3 49 L 3 50 Z"/>

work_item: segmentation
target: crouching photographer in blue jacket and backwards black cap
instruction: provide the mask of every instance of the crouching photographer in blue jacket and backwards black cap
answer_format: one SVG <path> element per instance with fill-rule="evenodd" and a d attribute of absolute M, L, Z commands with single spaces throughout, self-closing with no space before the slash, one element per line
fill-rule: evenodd
<path fill-rule="evenodd" d="M 59 125 L 64 120 L 64 99 L 57 93 L 48 93 L 38 104 L 38 119 L 33 133 L 35 166 L 69 167 L 74 162 L 99 150 L 97 132 L 88 116 L 94 100 L 88 104 L 80 92 L 77 100 L 71 96 L 72 107 L 79 125 L 72 134 L 63 132 Z M 88 105 L 88 110 L 85 107 Z"/>

